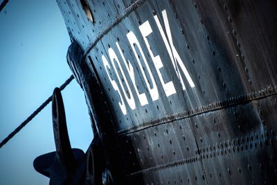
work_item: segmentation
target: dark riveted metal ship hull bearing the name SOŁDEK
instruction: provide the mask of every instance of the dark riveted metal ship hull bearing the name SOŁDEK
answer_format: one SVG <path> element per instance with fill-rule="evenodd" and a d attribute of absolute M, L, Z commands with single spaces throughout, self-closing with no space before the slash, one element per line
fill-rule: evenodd
<path fill-rule="evenodd" d="M 57 3 L 116 184 L 276 182 L 275 1 Z"/>

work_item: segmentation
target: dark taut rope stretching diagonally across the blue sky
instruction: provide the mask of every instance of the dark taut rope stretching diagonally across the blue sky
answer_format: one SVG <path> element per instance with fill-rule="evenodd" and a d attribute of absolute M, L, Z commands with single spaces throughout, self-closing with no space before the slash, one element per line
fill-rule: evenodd
<path fill-rule="evenodd" d="M 60 90 L 64 90 L 64 88 L 66 88 L 67 85 L 70 84 L 70 82 L 74 79 L 73 75 L 71 75 L 69 77 L 69 79 L 66 79 L 66 81 L 64 82 L 64 84 L 62 84 L 62 86 L 60 86 Z M 3 141 L 0 143 L 0 148 L 2 148 L 3 145 L 5 145 L 10 139 L 12 139 L 12 137 L 14 137 L 17 133 L 19 133 L 19 131 L 24 128 L 24 126 L 26 126 L 40 111 L 42 111 L 50 102 L 52 101 L 52 95 L 50 97 L 48 97 L 48 99 L 46 99 L 46 101 L 44 101 L 44 103 L 39 106 L 39 108 L 37 108 L 37 110 L 35 110 L 29 117 L 27 117 L 27 119 L 25 119 L 25 121 L 23 121 L 17 128 L 15 128 L 15 130 L 12 131 L 12 133 L 10 133 L 10 135 L 8 135 L 5 139 L 3 139 Z"/>

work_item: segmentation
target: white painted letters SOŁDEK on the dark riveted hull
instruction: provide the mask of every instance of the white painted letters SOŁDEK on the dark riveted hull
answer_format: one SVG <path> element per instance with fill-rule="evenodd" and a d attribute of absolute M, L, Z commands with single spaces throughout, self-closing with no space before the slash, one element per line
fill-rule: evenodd
<path fill-rule="evenodd" d="M 163 27 L 161 26 L 161 22 L 160 22 L 159 18 L 157 17 L 157 15 L 154 15 L 154 20 L 157 23 L 157 27 L 159 28 L 161 38 L 163 39 L 163 43 L 166 46 L 166 50 L 168 51 L 170 61 L 173 65 L 176 75 L 181 83 L 182 89 L 186 90 L 186 86 L 184 84 L 183 77 L 186 78 L 190 87 L 194 88 L 195 84 L 193 82 L 193 79 L 190 77 L 190 74 L 188 73 L 188 70 L 186 69 L 184 62 L 182 61 L 179 53 L 177 52 L 177 49 L 175 48 L 175 46 L 173 44 L 172 33 L 170 30 L 170 24 L 168 21 L 168 16 L 167 16 L 166 10 L 162 11 L 162 16 L 163 16 L 162 19 L 163 19 L 163 23 L 165 26 L 165 30 L 163 30 Z M 141 31 L 143 41 L 145 42 L 145 45 L 148 49 L 150 57 L 153 61 L 154 68 L 157 71 L 159 81 L 161 81 L 161 86 L 163 87 L 166 97 L 169 97 L 170 95 L 174 95 L 177 92 L 176 92 L 176 88 L 175 88 L 173 82 L 169 81 L 166 83 L 163 79 L 163 75 L 161 72 L 162 70 L 164 70 L 166 72 L 166 75 L 170 75 L 170 77 L 171 77 L 171 74 L 169 74 L 170 71 L 168 71 L 169 69 L 167 70 L 163 66 L 163 61 L 161 60 L 161 56 L 163 56 L 163 55 L 161 55 L 161 53 L 159 53 L 159 55 L 154 56 L 152 48 L 150 47 L 151 42 L 150 42 L 150 38 L 148 36 L 152 34 L 153 30 L 151 28 L 149 21 L 145 21 L 141 26 L 139 26 L 139 30 Z M 136 37 L 136 35 L 134 35 L 134 32 L 132 32 L 132 31 L 128 32 L 126 36 L 127 36 L 130 46 L 132 47 L 134 56 L 136 57 L 136 62 L 137 62 L 136 66 L 139 66 L 139 69 L 140 69 L 138 74 L 142 75 L 141 79 L 139 79 L 139 80 L 145 81 L 145 84 L 148 88 L 148 91 L 150 93 L 150 97 L 151 97 L 152 101 L 156 101 L 157 99 L 159 99 L 159 91 L 158 91 L 155 80 L 158 80 L 158 79 L 154 79 L 152 70 L 150 69 L 148 61 L 146 60 L 146 57 L 143 53 L 143 49 L 141 48 L 141 44 L 139 43 L 139 40 Z M 159 44 L 159 43 L 155 42 L 152 44 Z M 126 61 L 125 56 L 123 55 L 123 52 L 122 52 L 118 42 L 116 42 L 116 47 L 118 48 L 120 57 L 122 58 L 122 61 L 124 63 L 125 68 L 124 67 L 123 68 L 125 71 L 127 71 L 128 75 L 132 81 L 132 84 L 134 85 L 134 90 L 136 92 L 136 95 L 139 99 L 141 106 L 147 105 L 148 98 L 146 97 L 146 93 L 145 92 L 140 93 L 139 87 L 136 85 L 136 84 L 140 83 L 141 81 L 136 81 L 135 73 L 134 73 L 135 71 L 134 71 L 134 67 L 133 67 L 134 64 L 132 65 L 129 60 Z M 116 55 L 116 52 L 114 51 L 114 49 L 109 48 L 108 53 L 109 53 L 109 58 L 111 60 L 111 65 L 109 64 L 107 58 L 104 55 L 102 55 L 102 62 L 104 64 L 105 70 L 109 77 L 109 81 L 111 82 L 111 86 L 114 88 L 114 90 L 116 91 L 116 93 L 118 93 L 118 95 L 120 97 L 120 99 L 118 100 L 118 105 L 120 106 L 120 109 L 121 109 L 123 115 L 127 115 L 127 109 L 125 106 L 126 102 L 132 110 L 134 110 L 136 108 L 136 101 L 133 96 L 132 90 L 129 86 L 129 83 L 131 83 L 131 82 L 127 81 L 127 78 L 125 76 L 123 68 L 120 64 L 120 61 L 119 61 L 118 56 Z M 144 65 L 142 65 L 141 62 L 143 62 Z M 110 72 L 111 68 L 114 69 L 113 72 L 115 72 L 116 78 L 118 79 L 120 86 L 117 84 L 116 80 L 111 79 L 111 72 Z M 145 72 L 145 71 L 147 71 L 147 72 Z M 129 78 L 128 78 L 128 80 L 129 80 Z M 151 84 L 152 84 L 152 86 L 151 86 Z M 143 86 L 144 86 L 144 83 L 143 83 Z M 123 99 L 123 97 L 125 99 Z"/>

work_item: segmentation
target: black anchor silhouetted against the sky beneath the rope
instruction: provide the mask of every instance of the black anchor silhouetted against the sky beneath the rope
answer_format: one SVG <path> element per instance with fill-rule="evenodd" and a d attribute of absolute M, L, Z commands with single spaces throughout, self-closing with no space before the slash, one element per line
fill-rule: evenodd
<path fill-rule="evenodd" d="M 37 157 L 33 162 L 34 168 L 50 178 L 49 184 L 70 184 L 72 181 L 80 184 L 84 179 L 85 155 L 82 150 L 71 148 L 60 88 L 55 88 L 53 92 L 52 115 L 56 151 Z"/>

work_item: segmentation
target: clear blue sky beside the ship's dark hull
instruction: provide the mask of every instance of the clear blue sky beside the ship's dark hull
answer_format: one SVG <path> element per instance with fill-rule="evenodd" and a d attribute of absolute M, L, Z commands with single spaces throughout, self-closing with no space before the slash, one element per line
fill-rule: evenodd
<path fill-rule="evenodd" d="M 66 64 L 69 44 L 55 0 L 10 0 L 0 12 L 0 140 L 71 75 Z M 73 80 L 62 95 L 71 146 L 86 151 L 93 135 L 82 89 Z M 49 104 L 0 148 L 0 184 L 48 184 L 33 160 L 53 150 Z"/>

